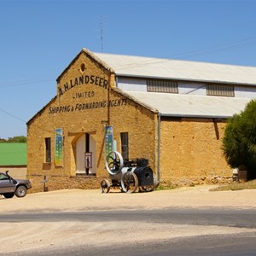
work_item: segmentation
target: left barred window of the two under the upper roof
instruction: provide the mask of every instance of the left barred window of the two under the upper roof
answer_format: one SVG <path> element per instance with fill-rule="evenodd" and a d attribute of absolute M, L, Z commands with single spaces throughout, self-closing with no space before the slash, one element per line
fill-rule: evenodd
<path fill-rule="evenodd" d="M 177 82 L 170 80 L 147 80 L 147 90 L 153 92 L 178 93 Z"/>

